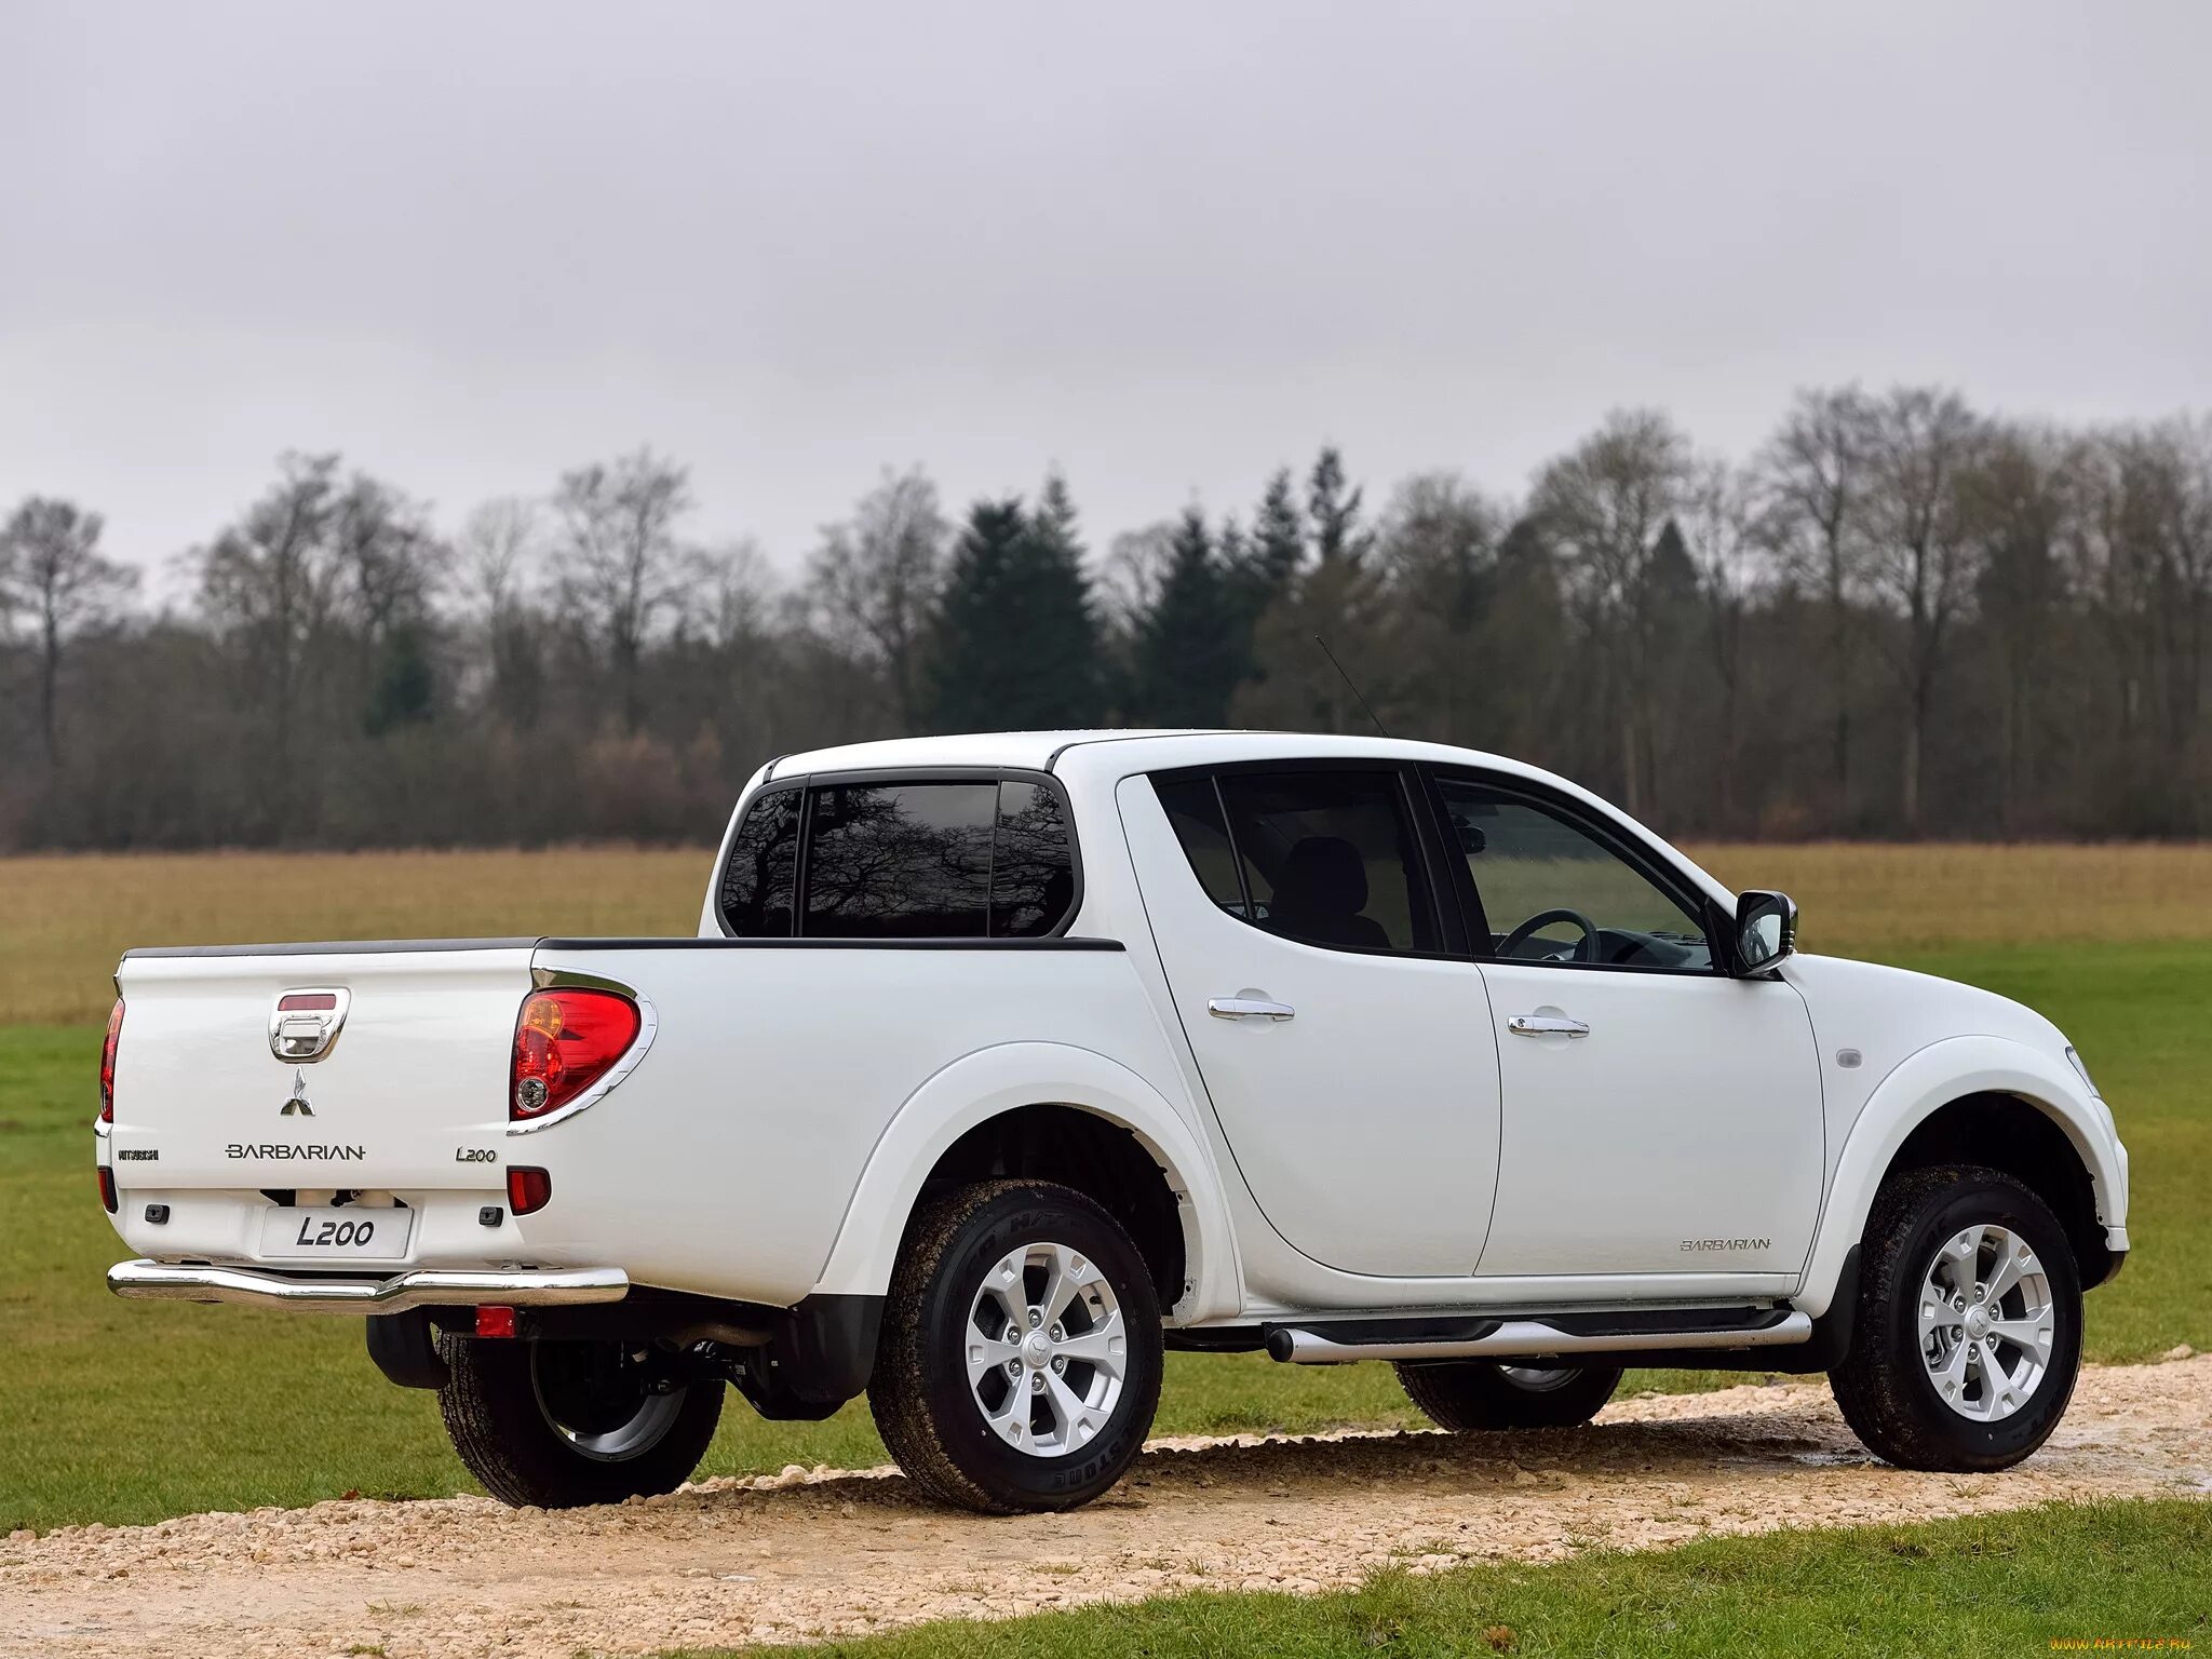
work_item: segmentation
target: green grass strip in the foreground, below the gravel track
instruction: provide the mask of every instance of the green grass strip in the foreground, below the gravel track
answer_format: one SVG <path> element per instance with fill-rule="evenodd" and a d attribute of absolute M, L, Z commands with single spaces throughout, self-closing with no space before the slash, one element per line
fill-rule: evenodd
<path fill-rule="evenodd" d="M 1641 1555 L 1593 1553 L 1555 1566 L 1387 1571 L 1340 1595 L 1181 1595 L 1002 1624 L 931 1624 L 810 1652 L 1805 1659 L 2026 1655 L 2097 1637 L 2212 1646 L 2212 1504 L 2051 1506 L 1922 1526 L 1703 1540 Z M 686 1650 L 686 1659 L 701 1657 Z"/>

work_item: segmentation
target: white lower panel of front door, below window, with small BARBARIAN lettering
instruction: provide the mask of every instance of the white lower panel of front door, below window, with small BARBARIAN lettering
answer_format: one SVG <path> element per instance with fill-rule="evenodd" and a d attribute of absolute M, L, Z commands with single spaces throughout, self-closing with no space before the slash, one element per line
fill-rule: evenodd
<path fill-rule="evenodd" d="M 1504 1141 L 1480 1272 L 1798 1272 L 1820 1077 L 1781 980 L 1484 962 Z M 1511 1031 L 1515 1015 L 1588 1035 Z"/>

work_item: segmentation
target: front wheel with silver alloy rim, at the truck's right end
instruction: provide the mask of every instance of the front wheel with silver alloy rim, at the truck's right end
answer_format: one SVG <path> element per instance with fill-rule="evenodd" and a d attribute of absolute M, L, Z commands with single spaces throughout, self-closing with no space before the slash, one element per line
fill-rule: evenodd
<path fill-rule="evenodd" d="M 1978 1241 L 1971 1279 L 1962 1241 Z M 2006 1263 L 2022 1272 L 1997 1290 L 2000 1329 L 1984 1332 L 1993 1338 L 1984 1360 L 1975 1314 Z M 1947 1312 L 1933 1294 L 1944 1287 L 1953 1290 Z M 1936 1323 L 1927 1334 L 1922 1305 Z M 2066 1230 L 2039 1197 L 1975 1166 L 1907 1170 L 1882 1183 L 1860 1245 L 1851 1347 L 1829 1374 L 1843 1420 L 1869 1451 L 1900 1469 L 2011 1469 L 2057 1427 L 2079 1369 L 2081 1279 Z"/>

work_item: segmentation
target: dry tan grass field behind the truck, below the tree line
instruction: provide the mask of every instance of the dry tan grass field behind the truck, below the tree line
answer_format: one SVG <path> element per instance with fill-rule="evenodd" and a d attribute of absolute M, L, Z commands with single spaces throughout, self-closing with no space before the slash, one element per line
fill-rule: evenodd
<path fill-rule="evenodd" d="M 1803 947 L 2212 940 L 2212 843 L 2126 847 L 1690 847 L 1778 887 Z M 504 933 L 690 933 L 706 847 L 62 854 L 0 858 L 0 1024 L 106 1020 L 133 945 Z"/>

